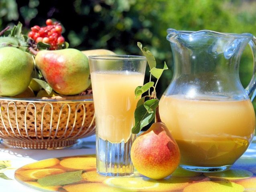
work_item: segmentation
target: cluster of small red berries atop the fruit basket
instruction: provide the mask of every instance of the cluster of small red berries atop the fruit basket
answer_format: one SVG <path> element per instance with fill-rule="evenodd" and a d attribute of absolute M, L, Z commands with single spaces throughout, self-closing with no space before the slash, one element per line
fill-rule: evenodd
<path fill-rule="evenodd" d="M 28 32 L 28 37 L 38 42 L 51 45 L 51 50 L 58 49 L 58 46 L 65 42 L 65 38 L 61 35 L 62 27 L 59 23 L 53 22 L 51 19 L 46 20 L 45 27 L 35 25 Z"/>

